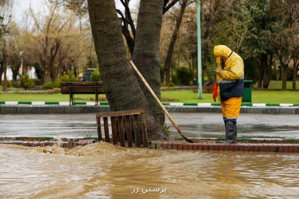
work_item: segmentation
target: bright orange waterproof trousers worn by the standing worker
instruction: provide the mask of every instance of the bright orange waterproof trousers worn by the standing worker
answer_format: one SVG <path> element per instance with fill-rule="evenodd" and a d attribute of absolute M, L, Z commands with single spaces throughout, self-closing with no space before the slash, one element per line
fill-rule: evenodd
<path fill-rule="evenodd" d="M 221 101 L 222 116 L 224 121 L 231 120 L 237 122 L 241 108 L 242 97 L 230 98 L 225 101 Z"/>

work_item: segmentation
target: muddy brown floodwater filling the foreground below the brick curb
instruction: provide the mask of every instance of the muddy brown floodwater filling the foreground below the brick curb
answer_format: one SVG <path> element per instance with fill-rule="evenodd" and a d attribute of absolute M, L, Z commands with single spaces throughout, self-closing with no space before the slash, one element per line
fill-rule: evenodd
<path fill-rule="evenodd" d="M 0 145 L 3 198 L 296 198 L 299 155 Z M 135 188 L 167 188 L 166 194 Z"/>

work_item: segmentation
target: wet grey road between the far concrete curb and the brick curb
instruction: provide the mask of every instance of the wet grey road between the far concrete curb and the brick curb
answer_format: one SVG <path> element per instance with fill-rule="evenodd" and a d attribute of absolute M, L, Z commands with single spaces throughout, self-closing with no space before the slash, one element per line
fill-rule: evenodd
<path fill-rule="evenodd" d="M 171 113 L 187 137 L 224 137 L 219 113 Z M 168 119 L 171 136 L 179 137 Z M 299 138 L 299 115 L 241 114 L 238 137 Z M 104 132 L 104 129 L 103 131 Z M 111 132 L 111 129 L 110 129 Z M 94 113 L 0 115 L 0 136 L 97 136 Z"/>

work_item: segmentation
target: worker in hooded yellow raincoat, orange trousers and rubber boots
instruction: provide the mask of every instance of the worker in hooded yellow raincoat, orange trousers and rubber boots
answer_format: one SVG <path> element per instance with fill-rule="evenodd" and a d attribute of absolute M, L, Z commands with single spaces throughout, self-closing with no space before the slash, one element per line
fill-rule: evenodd
<path fill-rule="evenodd" d="M 237 142 L 237 118 L 239 116 L 243 88 L 243 59 L 225 45 L 214 47 L 217 77 L 214 84 L 213 100 L 221 102 L 222 116 L 225 124 L 225 143 Z"/>

